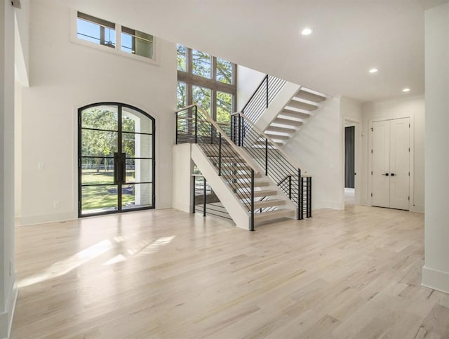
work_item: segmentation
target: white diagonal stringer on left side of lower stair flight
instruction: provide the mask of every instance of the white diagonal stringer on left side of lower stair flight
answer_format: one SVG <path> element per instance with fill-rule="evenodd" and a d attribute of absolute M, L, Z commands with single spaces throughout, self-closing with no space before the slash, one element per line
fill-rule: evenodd
<path fill-rule="evenodd" d="M 241 204 L 239 198 L 236 197 L 232 188 L 229 187 L 220 175 L 218 175 L 215 166 L 210 163 L 206 154 L 203 153 L 201 147 L 196 144 L 192 144 L 191 157 L 196 166 L 198 166 L 204 178 L 208 181 L 210 187 L 213 188 L 218 199 L 225 206 L 227 213 L 231 215 L 237 227 L 243 228 L 243 230 L 250 229 L 250 214 L 246 210 L 246 207 Z"/>

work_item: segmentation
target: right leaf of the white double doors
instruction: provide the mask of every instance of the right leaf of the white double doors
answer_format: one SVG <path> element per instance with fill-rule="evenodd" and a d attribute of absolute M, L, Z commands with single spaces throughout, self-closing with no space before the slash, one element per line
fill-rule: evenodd
<path fill-rule="evenodd" d="M 410 119 L 390 121 L 390 207 L 408 210 Z"/>

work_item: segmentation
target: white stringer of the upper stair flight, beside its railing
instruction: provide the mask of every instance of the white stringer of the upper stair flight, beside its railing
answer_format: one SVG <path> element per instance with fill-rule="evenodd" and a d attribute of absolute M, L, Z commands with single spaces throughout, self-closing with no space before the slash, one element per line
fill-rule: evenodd
<path fill-rule="evenodd" d="M 287 81 L 281 88 L 281 91 L 279 91 L 272 102 L 270 102 L 268 108 L 265 109 L 260 118 L 255 122 L 255 126 L 259 128 L 260 131 L 265 131 L 267 127 L 272 124 L 272 121 L 276 119 L 278 114 L 282 112 L 283 108 L 286 107 L 287 102 L 290 102 L 300 89 L 300 85 Z"/>

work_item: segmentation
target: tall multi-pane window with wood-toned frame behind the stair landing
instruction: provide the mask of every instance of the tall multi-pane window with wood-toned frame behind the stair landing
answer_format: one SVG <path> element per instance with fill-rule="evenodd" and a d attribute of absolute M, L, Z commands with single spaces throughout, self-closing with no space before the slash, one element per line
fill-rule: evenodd
<path fill-rule="evenodd" d="M 236 101 L 236 65 L 177 45 L 177 107 L 199 104 L 217 122 L 229 124 Z"/>

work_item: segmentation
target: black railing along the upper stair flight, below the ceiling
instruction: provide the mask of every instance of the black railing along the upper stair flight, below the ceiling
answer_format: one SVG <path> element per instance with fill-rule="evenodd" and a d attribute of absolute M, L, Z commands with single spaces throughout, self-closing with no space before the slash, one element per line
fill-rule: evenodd
<path fill-rule="evenodd" d="M 253 95 L 250 96 L 248 102 L 243 106 L 241 112 L 255 123 L 286 82 L 283 79 L 267 74 Z"/>

